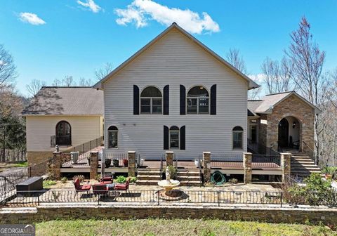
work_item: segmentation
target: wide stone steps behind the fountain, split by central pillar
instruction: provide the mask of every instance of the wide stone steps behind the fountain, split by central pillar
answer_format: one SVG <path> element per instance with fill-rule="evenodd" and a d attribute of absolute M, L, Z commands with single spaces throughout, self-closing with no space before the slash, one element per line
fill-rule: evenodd
<path fill-rule="evenodd" d="M 136 185 L 157 185 L 160 180 L 159 169 L 138 169 Z M 199 169 L 178 169 L 177 180 L 180 186 L 199 186 Z"/>

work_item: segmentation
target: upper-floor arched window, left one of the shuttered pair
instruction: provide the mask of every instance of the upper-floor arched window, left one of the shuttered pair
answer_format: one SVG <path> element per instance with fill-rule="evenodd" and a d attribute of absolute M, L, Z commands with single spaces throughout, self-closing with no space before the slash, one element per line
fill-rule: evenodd
<path fill-rule="evenodd" d="M 140 113 L 161 114 L 162 107 L 161 91 L 156 87 L 147 87 L 140 93 Z"/>

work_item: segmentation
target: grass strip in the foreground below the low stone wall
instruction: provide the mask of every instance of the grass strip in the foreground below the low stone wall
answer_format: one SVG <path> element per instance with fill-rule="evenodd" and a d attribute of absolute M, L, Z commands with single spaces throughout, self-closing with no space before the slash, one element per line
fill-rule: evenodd
<path fill-rule="evenodd" d="M 324 226 L 220 220 L 78 220 L 37 223 L 37 235 L 337 235 Z"/>

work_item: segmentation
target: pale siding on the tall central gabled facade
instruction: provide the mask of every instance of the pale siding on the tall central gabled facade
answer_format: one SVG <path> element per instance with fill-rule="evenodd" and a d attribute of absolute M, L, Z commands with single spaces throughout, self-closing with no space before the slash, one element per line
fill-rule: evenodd
<path fill-rule="evenodd" d="M 163 91 L 169 85 L 169 115 L 133 115 L 133 84 L 140 91 L 146 86 Z M 217 114 L 180 115 L 180 84 L 185 86 L 186 93 L 193 86 L 202 85 L 210 91 L 217 84 Z M 204 151 L 242 153 L 232 149 L 234 126 L 244 129 L 246 150 L 248 82 L 176 29 L 103 86 L 105 127 L 115 125 L 119 129 L 118 152 L 136 151 L 145 159 L 159 158 L 165 152 L 163 126 L 173 125 L 186 126 L 186 150 L 174 150 L 178 158 L 195 159 Z"/>

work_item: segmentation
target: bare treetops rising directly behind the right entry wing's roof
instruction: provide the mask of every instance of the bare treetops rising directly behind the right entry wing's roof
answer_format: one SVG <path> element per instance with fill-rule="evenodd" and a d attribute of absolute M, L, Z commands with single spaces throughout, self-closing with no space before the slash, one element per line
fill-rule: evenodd
<path fill-rule="evenodd" d="M 268 93 L 281 93 L 291 90 L 291 75 L 293 63 L 287 58 L 282 58 L 281 63 L 277 60 L 266 58 L 261 65 L 263 81 Z"/>

